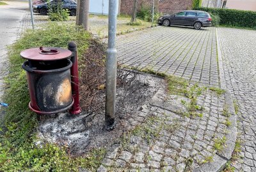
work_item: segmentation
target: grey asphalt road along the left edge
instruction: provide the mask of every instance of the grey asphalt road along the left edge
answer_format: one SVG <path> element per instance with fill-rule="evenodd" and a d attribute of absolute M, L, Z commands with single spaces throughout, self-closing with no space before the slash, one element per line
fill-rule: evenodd
<path fill-rule="evenodd" d="M 8 71 L 7 46 L 12 45 L 17 39 L 22 18 L 28 10 L 28 3 L 17 1 L 6 3 L 8 5 L 0 6 L 0 102 L 4 102 L 1 99 L 4 90 L 2 78 Z"/>

